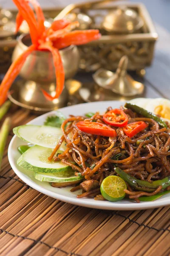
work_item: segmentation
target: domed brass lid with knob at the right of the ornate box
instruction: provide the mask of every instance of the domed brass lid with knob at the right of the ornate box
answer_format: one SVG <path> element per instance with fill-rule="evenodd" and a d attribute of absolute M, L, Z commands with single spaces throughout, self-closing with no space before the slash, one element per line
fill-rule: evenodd
<path fill-rule="evenodd" d="M 140 29 L 143 26 L 143 20 L 133 9 L 118 6 L 116 10 L 106 15 L 102 26 L 108 32 L 127 34 Z"/>

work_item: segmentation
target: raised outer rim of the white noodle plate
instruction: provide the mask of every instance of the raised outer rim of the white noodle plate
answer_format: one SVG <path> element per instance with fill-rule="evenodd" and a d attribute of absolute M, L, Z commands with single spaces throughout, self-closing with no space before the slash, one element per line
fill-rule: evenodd
<path fill-rule="evenodd" d="M 119 102 L 122 103 L 121 101 L 107 101 L 108 105 L 109 103 L 113 103 L 113 102 Z M 100 102 L 85 102 L 82 104 L 77 104 L 77 105 L 73 105 L 73 106 L 68 106 L 68 107 L 64 107 L 64 108 L 60 108 L 57 111 L 62 111 L 65 110 L 66 108 L 72 108 L 75 106 L 77 107 L 81 107 L 82 105 L 96 105 L 96 104 L 103 104 L 106 103 L 106 101 L 100 101 Z M 48 113 L 42 114 L 40 116 L 37 116 L 36 118 L 34 118 L 33 120 L 31 120 L 30 122 L 28 122 L 27 124 L 31 124 L 33 123 L 35 120 L 38 121 L 38 119 L 54 114 L 56 113 L 56 110 L 54 111 L 50 111 Z M 164 207 L 167 205 L 170 205 L 170 198 L 169 198 L 169 202 L 167 201 L 152 201 L 152 202 L 140 202 L 139 204 L 136 202 L 130 202 L 130 204 L 119 204 L 119 202 L 113 203 L 113 202 L 109 202 L 107 201 L 108 204 L 102 204 L 102 202 L 104 201 L 95 201 L 94 199 L 91 198 L 91 201 L 85 202 L 83 200 L 83 198 L 70 198 L 67 197 L 66 195 L 61 195 L 59 193 L 55 193 L 55 192 L 51 192 L 46 188 L 41 187 L 39 184 L 34 183 L 33 181 L 29 180 L 27 177 L 25 177 L 23 175 L 22 172 L 20 172 L 19 169 L 17 169 L 15 167 L 15 160 L 12 157 L 11 151 L 13 143 L 19 139 L 16 135 L 14 135 L 11 139 L 11 142 L 9 143 L 8 146 L 8 160 L 9 163 L 11 165 L 11 168 L 13 169 L 13 171 L 15 172 L 15 174 L 21 179 L 23 180 L 26 184 L 28 184 L 28 186 L 30 186 L 31 188 L 41 192 L 42 194 L 48 195 L 52 198 L 55 198 L 57 200 L 63 201 L 65 203 L 69 203 L 69 204 L 74 204 L 74 205 L 78 205 L 78 206 L 82 206 L 82 207 L 88 207 L 88 208 L 94 208 L 94 209 L 107 209 L 107 210 L 142 210 L 142 209 L 153 209 L 153 208 L 159 208 L 159 207 Z M 88 198 L 90 199 L 90 198 Z"/>

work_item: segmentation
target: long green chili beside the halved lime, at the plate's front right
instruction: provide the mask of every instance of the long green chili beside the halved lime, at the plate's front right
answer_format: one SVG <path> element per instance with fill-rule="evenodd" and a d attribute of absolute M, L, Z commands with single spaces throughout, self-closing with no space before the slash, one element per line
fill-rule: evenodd
<path fill-rule="evenodd" d="M 148 192 L 150 192 L 150 189 L 157 189 L 158 186 L 162 186 L 162 189 L 166 189 L 168 186 L 170 186 L 170 176 L 165 177 L 162 180 L 154 180 L 152 183 L 150 183 L 146 180 L 138 180 L 135 177 L 130 176 L 126 172 L 122 171 L 119 167 L 114 168 L 114 170 L 123 180 L 137 190 L 147 191 L 148 189 Z"/>

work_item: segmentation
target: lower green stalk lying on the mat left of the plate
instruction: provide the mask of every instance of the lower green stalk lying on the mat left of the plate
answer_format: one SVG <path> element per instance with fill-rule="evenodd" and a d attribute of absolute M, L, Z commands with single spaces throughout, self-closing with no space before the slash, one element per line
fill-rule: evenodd
<path fill-rule="evenodd" d="M 0 129 L 0 167 L 3 159 L 3 152 L 6 145 L 6 140 L 8 137 L 10 126 L 11 126 L 11 119 L 7 117 Z"/>

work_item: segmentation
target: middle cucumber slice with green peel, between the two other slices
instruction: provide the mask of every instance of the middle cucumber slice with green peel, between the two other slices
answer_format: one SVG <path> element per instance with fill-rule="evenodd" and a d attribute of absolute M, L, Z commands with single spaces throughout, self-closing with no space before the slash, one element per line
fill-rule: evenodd
<path fill-rule="evenodd" d="M 48 161 L 51 152 L 51 148 L 35 145 L 17 160 L 17 164 L 33 172 L 55 173 L 59 177 L 73 175 L 74 171 L 70 166 L 66 166 L 62 162 L 54 162 L 54 160 Z M 62 153 L 62 151 L 58 152 Z"/>

